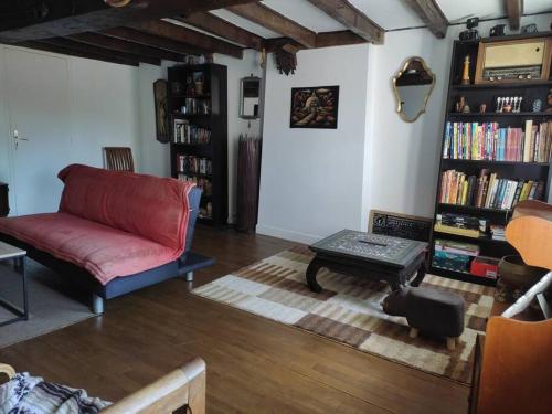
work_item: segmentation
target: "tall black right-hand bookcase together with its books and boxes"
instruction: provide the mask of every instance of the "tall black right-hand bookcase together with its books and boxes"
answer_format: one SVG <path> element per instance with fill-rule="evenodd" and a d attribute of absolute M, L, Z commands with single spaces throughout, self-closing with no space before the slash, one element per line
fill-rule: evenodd
<path fill-rule="evenodd" d="M 454 44 L 429 272 L 493 285 L 498 259 L 516 253 L 503 236 L 513 206 L 548 200 L 552 79 L 474 84 L 478 46 Z M 471 84 L 465 85 L 467 55 Z"/>

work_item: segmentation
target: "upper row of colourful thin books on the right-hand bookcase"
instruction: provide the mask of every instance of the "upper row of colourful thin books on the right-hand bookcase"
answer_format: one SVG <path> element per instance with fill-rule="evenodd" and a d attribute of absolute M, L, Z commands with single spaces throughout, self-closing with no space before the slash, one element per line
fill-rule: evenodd
<path fill-rule="evenodd" d="M 524 128 L 501 128 L 498 123 L 450 123 L 446 125 L 443 158 L 517 162 L 550 162 L 552 121 Z"/>

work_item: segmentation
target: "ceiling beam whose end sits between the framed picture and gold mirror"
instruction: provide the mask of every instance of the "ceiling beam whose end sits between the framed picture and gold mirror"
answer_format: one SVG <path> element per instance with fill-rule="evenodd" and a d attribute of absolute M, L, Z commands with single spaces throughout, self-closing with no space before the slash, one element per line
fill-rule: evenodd
<path fill-rule="evenodd" d="M 383 44 L 384 30 L 347 0 L 308 0 L 347 29 L 374 44 Z"/>

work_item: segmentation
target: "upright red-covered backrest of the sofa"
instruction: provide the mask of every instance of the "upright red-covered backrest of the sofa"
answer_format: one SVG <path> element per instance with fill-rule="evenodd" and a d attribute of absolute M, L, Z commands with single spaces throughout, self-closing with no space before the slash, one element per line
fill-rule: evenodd
<path fill-rule="evenodd" d="M 60 212 L 73 214 L 183 252 L 191 182 L 72 164 Z"/>

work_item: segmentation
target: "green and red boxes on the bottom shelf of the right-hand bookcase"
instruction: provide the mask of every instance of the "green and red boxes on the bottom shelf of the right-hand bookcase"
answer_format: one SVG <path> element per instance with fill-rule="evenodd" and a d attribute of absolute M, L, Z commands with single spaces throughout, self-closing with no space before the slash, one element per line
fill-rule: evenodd
<path fill-rule="evenodd" d="M 474 276 L 497 278 L 498 259 L 479 255 L 479 246 L 450 240 L 436 238 L 433 265 Z"/>

